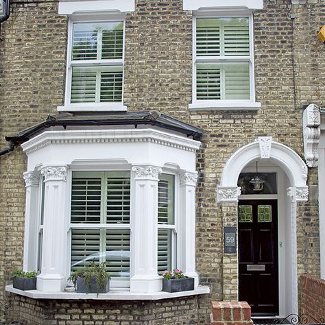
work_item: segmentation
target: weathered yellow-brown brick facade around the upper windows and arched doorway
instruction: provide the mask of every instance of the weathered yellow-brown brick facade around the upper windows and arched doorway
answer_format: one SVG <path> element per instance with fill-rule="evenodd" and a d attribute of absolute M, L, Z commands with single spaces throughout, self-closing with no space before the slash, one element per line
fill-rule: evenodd
<path fill-rule="evenodd" d="M 296 19 L 290 19 L 289 12 Z M 182 10 L 181 0 L 136 0 L 136 11 L 127 14 L 125 23 L 124 104 L 128 110 L 160 110 L 204 131 L 197 156 L 196 245 L 197 272 L 200 283 L 210 286 L 210 297 L 125 302 L 121 308 L 117 302 L 107 307 L 105 302 L 34 301 L 1 291 L 0 301 L 10 302 L 12 309 L 0 306 L 0 316 L 21 317 L 27 324 L 38 324 L 40 315 L 52 322 L 43 324 L 110 324 L 100 318 L 108 308 L 125 316 L 115 315 L 111 324 L 208 324 L 210 298 L 237 300 L 237 256 L 223 253 L 223 228 L 236 226 L 237 206 L 217 204 L 217 184 L 230 156 L 257 136 L 273 136 L 303 157 L 302 107 L 311 102 L 324 106 L 325 100 L 324 45 L 317 38 L 324 14 L 322 0 L 292 8 L 290 0 L 264 1 L 264 9 L 254 12 L 255 88 L 261 110 L 190 112 L 192 14 Z M 67 18 L 58 15 L 58 3 L 11 1 L 10 19 L 0 32 L 1 147 L 7 146 L 4 136 L 43 121 L 64 103 L 66 56 Z M 0 164 L 4 286 L 23 263 L 25 156 L 16 148 L 1 156 Z M 308 185 L 317 193 L 317 169 L 309 169 Z M 317 196 L 299 203 L 297 216 L 298 274 L 319 276 Z M 84 311 L 94 304 L 102 314 Z M 65 320 L 59 322 L 58 315 Z M 99 317 L 97 322 L 93 315 Z M 152 315 L 161 318 L 145 318 Z"/>

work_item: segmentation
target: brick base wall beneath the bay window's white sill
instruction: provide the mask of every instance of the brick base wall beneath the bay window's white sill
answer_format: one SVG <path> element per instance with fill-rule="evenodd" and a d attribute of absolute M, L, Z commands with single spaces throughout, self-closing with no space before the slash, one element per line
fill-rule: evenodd
<path fill-rule="evenodd" d="M 10 294 L 20 325 L 208 325 L 200 296 L 164 300 L 36 300 Z M 203 305 L 202 305 L 203 304 Z"/>

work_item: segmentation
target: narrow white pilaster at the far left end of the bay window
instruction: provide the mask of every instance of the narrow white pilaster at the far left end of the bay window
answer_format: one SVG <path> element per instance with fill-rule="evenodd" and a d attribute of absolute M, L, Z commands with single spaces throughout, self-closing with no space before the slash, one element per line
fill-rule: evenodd
<path fill-rule="evenodd" d="M 25 205 L 25 240 L 24 240 L 24 271 L 34 271 L 37 267 L 38 240 L 38 193 L 39 173 L 26 171 L 23 175 L 26 187 Z"/>

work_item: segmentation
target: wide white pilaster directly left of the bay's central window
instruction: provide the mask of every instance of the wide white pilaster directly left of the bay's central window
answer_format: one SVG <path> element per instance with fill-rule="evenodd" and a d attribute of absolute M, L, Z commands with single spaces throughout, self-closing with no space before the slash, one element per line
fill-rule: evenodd
<path fill-rule="evenodd" d="M 67 255 L 67 166 L 44 167 L 44 230 L 40 291 L 62 291 Z"/>

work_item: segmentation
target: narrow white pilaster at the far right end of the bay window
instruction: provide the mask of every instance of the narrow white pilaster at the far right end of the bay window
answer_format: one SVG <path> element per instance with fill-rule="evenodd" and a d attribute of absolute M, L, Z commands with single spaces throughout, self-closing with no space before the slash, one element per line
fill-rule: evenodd
<path fill-rule="evenodd" d="M 195 186 L 197 172 L 184 171 L 180 174 L 180 225 L 178 227 L 178 243 L 180 252 L 178 268 L 186 276 L 195 279 L 195 288 L 199 284 L 199 276 L 195 271 Z"/>

